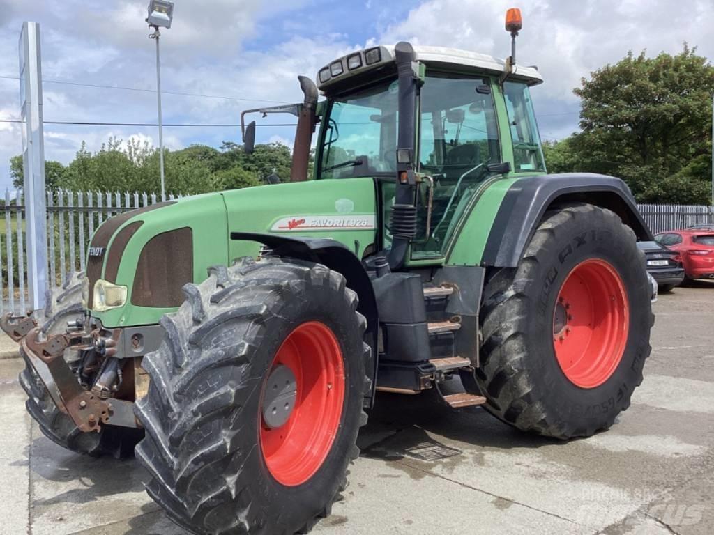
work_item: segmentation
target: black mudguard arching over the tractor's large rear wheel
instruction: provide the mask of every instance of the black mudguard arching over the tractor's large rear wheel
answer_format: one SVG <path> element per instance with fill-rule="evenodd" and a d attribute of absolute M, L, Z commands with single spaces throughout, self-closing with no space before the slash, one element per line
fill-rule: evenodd
<path fill-rule="evenodd" d="M 506 192 L 481 258 L 482 266 L 516 267 L 545 211 L 553 203 L 583 202 L 616 213 L 638 240 L 652 240 L 628 186 L 595 173 L 538 175 L 516 180 Z"/>

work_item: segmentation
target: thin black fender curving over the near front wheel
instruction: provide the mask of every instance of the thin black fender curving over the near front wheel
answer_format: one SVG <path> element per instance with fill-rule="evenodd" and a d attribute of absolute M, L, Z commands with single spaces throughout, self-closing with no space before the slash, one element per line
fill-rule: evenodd
<path fill-rule="evenodd" d="M 367 319 L 365 339 L 372 347 L 373 366 L 371 370 L 366 370 L 372 388 L 371 392 L 365 393 L 365 405 L 371 407 L 377 379 L 379 322 L 372 283 L 359 258 L 345 245 L 329 238 L 285 238 L 272 234 L 233 232 L 231 240 L 262 243 L 272 250 L 273 255 L 320 263 L 345 277 L 347 287 L 359 297 L 358 312 Z"/>

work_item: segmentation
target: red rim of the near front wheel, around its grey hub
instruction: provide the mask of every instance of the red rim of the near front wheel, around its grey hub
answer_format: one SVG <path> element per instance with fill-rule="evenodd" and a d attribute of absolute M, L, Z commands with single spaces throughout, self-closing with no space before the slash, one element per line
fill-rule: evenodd
<path fill-rule="evenodd" d="M 313 477 L 335 441 L 345 395 L 342 351 L 329 327 L 306 322 L 278 349 L 271 370 L 278 365 L 290 368 L 296 379 L 295 405 L 277 429 L 267 427 L 259 414 L 261 451 L 276 481 L 297 486 Z M 265 385 L 261 410 L 264 397 Z"/>

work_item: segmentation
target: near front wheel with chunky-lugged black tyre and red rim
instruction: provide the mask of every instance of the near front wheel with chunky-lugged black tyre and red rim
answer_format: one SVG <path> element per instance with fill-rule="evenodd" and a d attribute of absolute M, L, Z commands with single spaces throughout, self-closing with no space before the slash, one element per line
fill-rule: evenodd
<path fill-rule="evenodd" d="M 357 432 L 366 423 L 371 349 L 363 342 L 366 320 L 357 312 L 357 295 L 338 272 L 312 263 L 246 259 L 209 272 L 200 285 L 184 286 L 186 302 L 161 320 L 164 342 L 144 358 L 151 383 L 136 404 L 146 429 L 136 455 L 151 475 L 146 490 L 197 534 L 306 533 L 345 488 L 348 464 L 359 453 Z M 336 342 L 326 361 L 333 372 L 325 367 L 319 374 L 334 379 L 303 388 L 314 367 L 295 363 L 319 347 L 304 352 L 296 343 L 292 361 L 280 356 L 286 340 L 310 330 Z M 278 364 L 293 370 L 298 394 L 287 423 L 269 429 L 267 379 L 273 384 Z M 312 392 L 328 400 L 320 416 L 306 408 Z M 307 429 L 298 427 L 306 423 Z M 304 431 L 290 435 L 293 429 Z M 283 431 L 301 444 L 318 437 L 303 441 L 314 444 L 316 457 L 308 459 L 312 450 L 299 444 L 281 449 Z"/>

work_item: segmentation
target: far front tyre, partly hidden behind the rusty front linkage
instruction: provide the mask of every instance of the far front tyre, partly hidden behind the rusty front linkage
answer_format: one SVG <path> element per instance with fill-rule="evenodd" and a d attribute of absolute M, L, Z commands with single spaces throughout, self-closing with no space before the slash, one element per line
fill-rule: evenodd
<path fill-rule="evenodd" d="M 66 277 L 64 285 L 53 288 L 46 295 L 46 306 L 36 317 L 37 325 L 47 335 L 64 332 L 67 322 L 84 315 L 82 307 L 81 285 L 84 272 L 74 272 Z M 144 436 L 140 429 L 104 425 L 99 432 L 81 432 L 72 419 L 57 408 L 44 386 L 44 383 L 25 360 L 25 369 L 20 372 L 19 381 L 27 394 L 25 407 L 30 416 L 39 425 L 42 434 L 55 444 L 71 452 L 87 454 L 92 457 L 111 455 L 116 459 L 134 456 L 134 447 Z M 71 354 L 68 350 L 67 354 Z"/>

